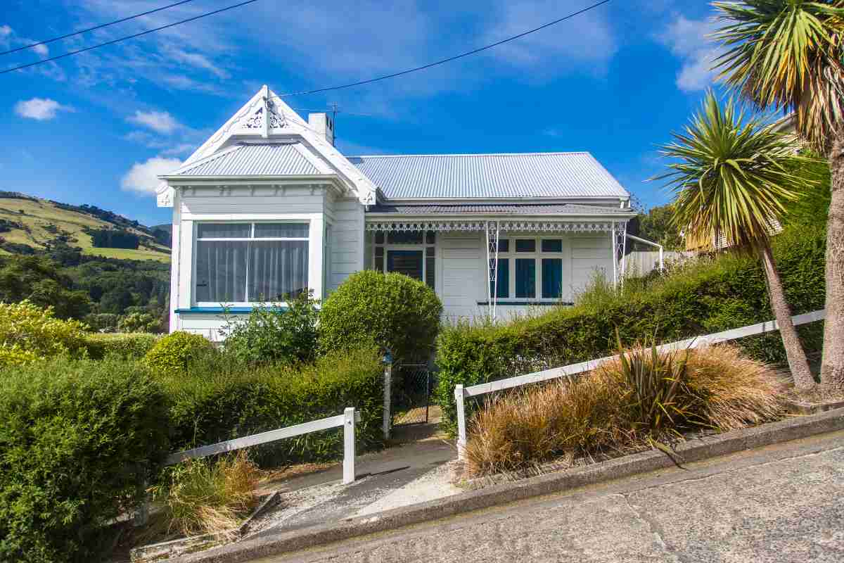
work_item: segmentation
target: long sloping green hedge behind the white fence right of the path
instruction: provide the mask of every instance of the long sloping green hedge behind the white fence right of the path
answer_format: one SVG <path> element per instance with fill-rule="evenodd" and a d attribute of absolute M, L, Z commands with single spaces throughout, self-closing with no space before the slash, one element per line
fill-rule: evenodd
<path fill-rule="evenodd" d="M 774 238 L 774 255 L 794 314 L 824 307 L 825 231 L 802 225 Z M 616 292 L 598 287 L 573 307 L 555 307 L 507 324 L 443 328 L 436 401 L 454 430 L 454 387 L 474 385 L 611 355 L 615 329 L 624 343 L 670 342 L 773 318 L 766 281 L 752 257 L 720 255 L 650 283 L 630 281 Z M 800 328 L 807 352 L 820 350 L 822 323 Z M 782 362 L 778 333 L 738 343 L 749 355 Z"/>

